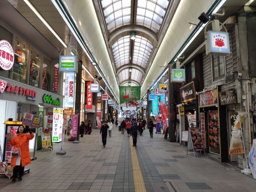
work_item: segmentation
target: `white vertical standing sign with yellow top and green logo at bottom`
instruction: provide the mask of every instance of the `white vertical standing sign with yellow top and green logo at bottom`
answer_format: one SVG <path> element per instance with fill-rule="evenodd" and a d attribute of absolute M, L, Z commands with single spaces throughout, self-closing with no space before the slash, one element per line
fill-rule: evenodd
<path fill-rule="evenodd" d="M 62 139 L 63 109 L 53 108 L 52 142 L 60 142 Z"/>

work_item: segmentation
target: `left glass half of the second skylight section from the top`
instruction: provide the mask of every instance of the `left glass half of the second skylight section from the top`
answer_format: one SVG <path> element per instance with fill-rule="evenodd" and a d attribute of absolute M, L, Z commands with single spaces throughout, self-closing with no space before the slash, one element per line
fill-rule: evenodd
<path fill-rule="evenodd" d="M 112 45 L 116 68 L 126 63 L 130 63 L 130 36 L 124 36 Z"/>

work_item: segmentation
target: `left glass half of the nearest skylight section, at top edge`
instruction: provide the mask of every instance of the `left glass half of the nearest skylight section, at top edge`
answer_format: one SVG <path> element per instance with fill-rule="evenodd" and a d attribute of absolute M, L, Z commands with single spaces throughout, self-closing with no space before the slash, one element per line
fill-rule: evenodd
<path fill-rule="evenodd" d="M 131 0 L 102 0 L 108 32 L 131 23 Z"/>

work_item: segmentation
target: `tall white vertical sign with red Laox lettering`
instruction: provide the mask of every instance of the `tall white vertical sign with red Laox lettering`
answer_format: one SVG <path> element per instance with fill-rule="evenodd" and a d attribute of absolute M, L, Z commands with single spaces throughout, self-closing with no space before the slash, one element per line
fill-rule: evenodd
<path fill-rule="evenodd" d="M 75 99 L 75 73 L 65 74 L 64 107 L 74 107 Z"/>

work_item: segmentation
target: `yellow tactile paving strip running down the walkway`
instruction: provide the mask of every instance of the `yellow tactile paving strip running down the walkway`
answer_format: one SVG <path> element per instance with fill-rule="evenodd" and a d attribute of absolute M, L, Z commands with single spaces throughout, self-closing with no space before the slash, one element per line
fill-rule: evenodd
<path fill-rule="evenodd" d="M 132 136 L 130 137 L 130 147 L 132 155 L 132 171 L 133 171 L 133 181 L 135 192 L 146 192 L 145 183 L 140 171 L 140 164 L 137 157 L 135 147 L 132 147 Z"/>

